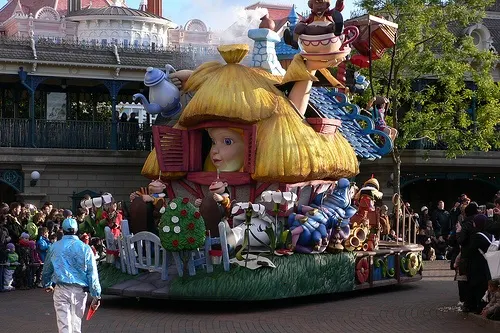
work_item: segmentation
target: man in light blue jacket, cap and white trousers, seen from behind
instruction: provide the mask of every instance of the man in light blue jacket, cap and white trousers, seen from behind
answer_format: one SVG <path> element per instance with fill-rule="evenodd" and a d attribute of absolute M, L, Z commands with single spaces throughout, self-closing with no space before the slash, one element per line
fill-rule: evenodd
<path fill-rule="evenodd" d="M 62 223 L 64 236 L 55 242 L 45 258 L 42 272 L 47 292 L 54 292 L 59 333 L 80 333 L 87 292 L 91 307 L 100 305 L 101 285 L 92 249 L 77 236 L 78 223 L 67 218 Z"/>

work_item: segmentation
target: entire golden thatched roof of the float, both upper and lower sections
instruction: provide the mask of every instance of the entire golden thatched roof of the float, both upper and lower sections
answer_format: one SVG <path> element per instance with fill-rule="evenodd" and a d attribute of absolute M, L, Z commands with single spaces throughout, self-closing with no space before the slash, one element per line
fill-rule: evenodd
<path fill-rule="evenodd" d="M 263 182 L 302 182 L 352 177 L 356 154 L 340 134 L 317 133 L 276 88 L 290 76 L 309 79 L 309 72 L 292 66 L 282 78 L 238 64 L 247 45 L 219 47 L 226 65 L 209 62 L 189 78 L 185 90 L 195 92 L 178 125 L 189 128 L 206 121 L 226 120 L 257 125 L 255 172 Z M 173 176 L 173 175 L 172 175 Z"/>

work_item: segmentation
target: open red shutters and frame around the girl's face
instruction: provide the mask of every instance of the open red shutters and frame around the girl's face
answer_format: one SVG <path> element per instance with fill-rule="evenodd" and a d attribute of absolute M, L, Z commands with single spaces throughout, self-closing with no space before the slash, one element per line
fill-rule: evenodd
<path fill-rule="evenodd" d="M 200 124 L 189 130 L 168 126 L 153 126 L 153 139 L 160 170 L 163 172 L 188 172 L 188 179 L 194 183 L 209 185 L 216 178 L 215 172 L 203 170 L 209 158 L 211 139 L 208 128 L 237 128 L 243 131 L 245 146 L 242 172 L 224 172 L 232 185 L 248 184 L 250 174 L 255 171 L 256 125 L 235 124 L 214 121 Z"/>

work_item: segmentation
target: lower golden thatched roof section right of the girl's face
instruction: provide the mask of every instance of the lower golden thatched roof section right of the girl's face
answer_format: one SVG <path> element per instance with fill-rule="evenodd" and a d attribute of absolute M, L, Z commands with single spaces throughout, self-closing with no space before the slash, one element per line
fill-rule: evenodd
<path fill-rule="evenodd" d="M 262 182 L 296 183 L 317 179 L 349 178 L 358 174 L 358 161 L 349 142 L 314 131 L 279 98 L 278 112 L 257 124 L 255 172 Z"/>

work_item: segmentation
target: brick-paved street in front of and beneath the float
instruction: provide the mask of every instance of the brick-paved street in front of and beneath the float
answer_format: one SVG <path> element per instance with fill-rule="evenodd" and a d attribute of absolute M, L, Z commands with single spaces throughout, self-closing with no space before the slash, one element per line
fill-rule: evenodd
<path fill-rule="evenodd" d="M 457 286 L 449 271 L 427 269 L 426 279 L 409 285 L 299 300 L 192 303 L 105 296 L 83 332 L 500 332 L 493 322 L 454 311 Z M 0 299 L 0 332 L 57 332 L 51 297 L 41 289 Z"/>

